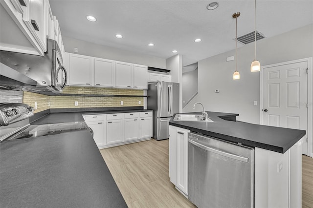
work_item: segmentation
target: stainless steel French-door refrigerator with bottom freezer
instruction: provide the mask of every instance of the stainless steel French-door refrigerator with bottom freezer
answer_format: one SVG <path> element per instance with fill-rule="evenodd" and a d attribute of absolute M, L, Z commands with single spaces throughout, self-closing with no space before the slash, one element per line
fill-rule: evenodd
<path fill-rule="evenodd" d="M 150 83 L 147 95 L 147 107 L 153 110 L 153 138 L 168 139 L 168 123 L 175 113 L 179 113 L 179 83 Z"/>

